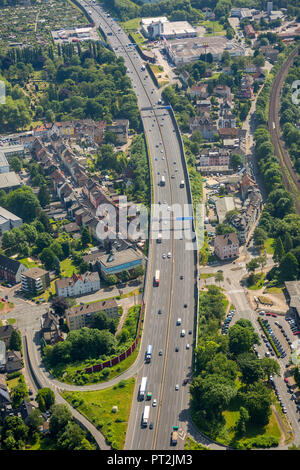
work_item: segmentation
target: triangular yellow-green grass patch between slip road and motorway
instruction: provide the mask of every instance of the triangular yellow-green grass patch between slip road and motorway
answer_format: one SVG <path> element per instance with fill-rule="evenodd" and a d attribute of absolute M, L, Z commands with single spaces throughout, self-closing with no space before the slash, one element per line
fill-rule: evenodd
<path fill-rule="evenodd" d="M 123 449 L 135 379 L 122 380 L 106 390 L 63 392 L 62 396 L 91 421 L 113 449 Z M 113 413 L 114 406 L 118 411 Z"/>

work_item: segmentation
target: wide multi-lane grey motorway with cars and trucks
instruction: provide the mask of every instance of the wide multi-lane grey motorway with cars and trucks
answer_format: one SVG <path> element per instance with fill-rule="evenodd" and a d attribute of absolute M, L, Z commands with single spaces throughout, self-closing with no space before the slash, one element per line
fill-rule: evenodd
<path fill-rule="evenodd" d="M 180 150 L 178 135 L 169 110 L 158 104 L 159 93 L 147 70 L 142 70 L 143 62 L 134 46 L 120 26 L 99 6 L 81 1 L 94 23 L 101 25 L 107 40 L 118 56 L 124 58 L 127 73 L 132 80 L 137 95 L 144 132 L 149 145 L 153 177 L 152 204 L 165 204 L 166 214 L 174 204 L 186 206 L 186 215 L 192 215 L 188 207 L 189 194 L 186 184 L 180 188 L 184 177 L 184 163 Z M 160 185 L 162 176 L 165 185 Z M 156 218 L 152 208 L 152 219 Z M 160 227 L 166 229 L 165 216 Z M 191 375 L 194 331 L 195 301 L 194 289 L 197 279 L 195 256 L 193 250 L 187 250 L 187 239 L 190 237 L 191 222 L 187 222 L 182 237 L 177 237 L 174 224 L 171 222 L 169 238 L 162 243 L 150 241 L 147 283 L 145 289 L 145 320 L 140 354 L 144 355 L 148 344 L 153 347 L 152 360 L 149 364 L 139 361 L 141 367 L 136 376 L 136 387 L 127 429 L 125 448 L 127 449 L 170 449 L 172 427 L 179 427 L 177 448 L 183 449 L 187 429 L 187 410 L 189 406 L 188 385 L 183 380 Z M 157 229 L 152 224 L 153 231 Z M 170 253 L 170 257 L 168 257 Z M 154 287 L 155 271 L 160 271 L 160 284 Z M 186 305 L 186 306 L 185 306 Z M 161 313 L 158 311 L 161 310 Z M 177 318 L 182 319 L 180 326 Z M 185 336 L 180 332 L 185 329 Z M 189 330 L 192 333 L 189 334 Z M 187 349 L 187 344 L 190 348 Z M 175 351 L 176 347 L 178 352 Z M 159 351 L 162 350 L 162 354 Z M 138 400 L 138 390 L 142 377 L 148 377 L 147 390 L 152 392 L 150 402 Z M 178 384 L 179 389 L 175 390 Z M 153 407 L 153 399 L 157 406 Z M 151 407 L 149 421 L 153 429 L 141 426 L 145 405 Z"/>

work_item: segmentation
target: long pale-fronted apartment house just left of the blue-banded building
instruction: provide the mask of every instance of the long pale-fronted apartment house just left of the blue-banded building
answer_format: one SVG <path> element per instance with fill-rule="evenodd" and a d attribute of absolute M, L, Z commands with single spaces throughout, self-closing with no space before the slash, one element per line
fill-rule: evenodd
<path fill-rule="evenodd" d="M 96 272 L 73 274 L 70 278 L 65 277 L 55 281 L 56 295 L 61 297 L 78 297 L 97 292 L 99 289 L 100 278 Z"/>

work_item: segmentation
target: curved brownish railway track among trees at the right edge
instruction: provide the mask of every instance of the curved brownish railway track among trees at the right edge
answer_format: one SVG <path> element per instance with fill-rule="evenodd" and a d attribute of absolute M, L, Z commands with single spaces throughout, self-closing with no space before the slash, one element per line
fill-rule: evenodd
<path fill-rule="evenodd" d="M 294 170 L 289 153 L 287 152 L 281 136 L 279 123 L 280 95 L 284 80 L 288 73 L 294 58 L 298 54 L 298 47 L 291 53 L 288 59 L 282 65 L 272 86 L 270 94 L 269 120 L 268 127 L 271 136 L 271 142 L 274 147 L 275 155 L 278 158 L 282 170 L 283 183 L 285 188 L 293 195 L 297 213 L 300 215 L 300 180 Z"/>

